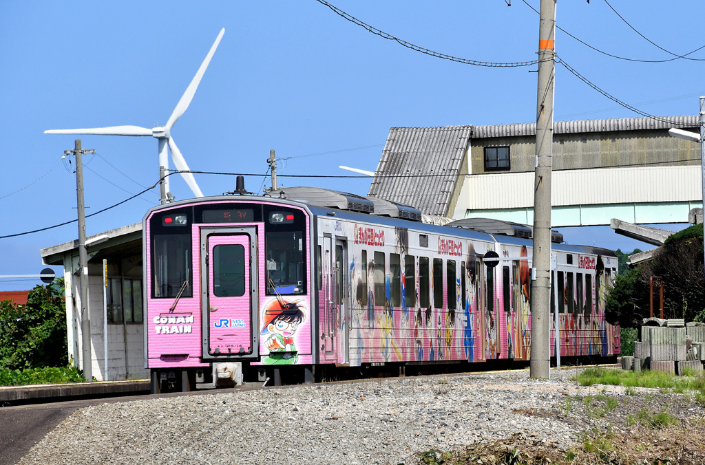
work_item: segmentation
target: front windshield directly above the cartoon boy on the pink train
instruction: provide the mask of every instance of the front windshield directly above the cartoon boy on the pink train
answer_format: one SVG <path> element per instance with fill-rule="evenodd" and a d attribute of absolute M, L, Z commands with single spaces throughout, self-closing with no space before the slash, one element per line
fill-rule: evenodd
<path fill-rule="evenodd" d="M 305 255 L 302 231 L 266 233 L 266 293 L 304 294 Z"/>

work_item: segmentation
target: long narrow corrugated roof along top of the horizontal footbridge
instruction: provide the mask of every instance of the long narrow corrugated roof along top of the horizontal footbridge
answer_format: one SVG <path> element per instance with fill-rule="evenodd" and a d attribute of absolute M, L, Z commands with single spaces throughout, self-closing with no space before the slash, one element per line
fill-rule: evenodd
<path fill-rule="evenodd" d="M 656 130 L 670 128 L 698 128 L 698 116 L 659 116 L 654 118 L 609 118 L 603 120 L 555 121 L 554 134 L 576 132 L 609 132 Z M 472 137 L 514 137 L 536 135 L 536 123 L 516 123 L 474 126 Z"/>

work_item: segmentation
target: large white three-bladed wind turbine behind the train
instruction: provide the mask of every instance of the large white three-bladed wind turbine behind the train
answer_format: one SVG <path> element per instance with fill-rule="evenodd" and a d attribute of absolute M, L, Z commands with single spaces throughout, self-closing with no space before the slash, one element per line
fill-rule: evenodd
<path fill-rule="evenodd" d="M 176 104 L 176 108 L 171 113 L 171 116 L 169 116 L 169 119 L 166 121 L 166 125 L 157 126 L 157 128 L 152 129 L 129 125 L 111 126 L 109 128 L 60 129 L 47 130 L 44 131 L 44 134 L 90 134 L 155 137 L 159 141 L 159 178 L 162 178 L 164 176 L 164 173 L 168 170 L 169 167 L 168 154 L 166 151 L 166 147 L 168 146 L 169 151 L 171 151 L 171 159 L 173 159 L 174 166 L 176 166 L 176 169 L 181 172 L 181 175 L 183 176 L 188 186 L 191 188 L 195 197 L 203 197 L 203 193 L 201 192 L 200 187 L 198 187 L 198 185 L 196 184 L 195 178 L 193 177 L 192 173 L 188 172 L 190 171 L 190 169 L 186 164 L 186 160 L 183 158 L 183 155 L 179 151 L 178 147 L 176 147 L 176 142 L 174 142 L 173 137 L 171 137 L 171 128 L 173 128 L 173 125 L 174 123 L 176 123 L 176 120 L 178 120 L 178 118 L 183 115 L 186 109 L 188 109 L 188 106 L 191 103 L 194 94 L 196 93 L 196 89 L 198 88 L 198 85 L 201 82 L 201 78 L 206 72 L 206 68 L 208 68 L 208 64 L 211 62 L 211 58 L 213 58 L 213 54 L 218 48 L 218 44 L 220 44 L 224 33 L 225 28 L 221 29 L 220 34 L 216 38 L 216 42 L 213 43 L 213 46 L 206 55 L 206 58 L 204 59 L 203 63 L 201 63 L 200 68 L 198 68 L 196 75 L 193 77 L 188 87 L 186 87 L 186 92 L 183 93 L 181 99 L 178 101 L 178 104 Z M 161 181 L 160 189 L 160 199 L 162 203 L 168 202 L 168 199 L 166 198 L 166 193 L 168 192 L 168 190 L 169 178 L 164 177 Z"/>

